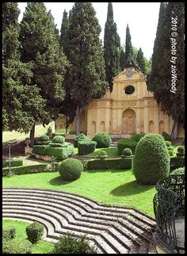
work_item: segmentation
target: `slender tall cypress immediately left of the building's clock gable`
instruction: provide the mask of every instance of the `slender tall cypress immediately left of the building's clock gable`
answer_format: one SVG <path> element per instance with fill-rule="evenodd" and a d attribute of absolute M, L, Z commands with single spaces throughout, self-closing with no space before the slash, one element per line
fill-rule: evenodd
<path fill-rule="evenodd" d="M 120 72 L 120 36 L 113 21 L 113 4 L 109 2 L 104 34 L 105 73 L 109 89 L 113 91 L 113 77 Z"/>

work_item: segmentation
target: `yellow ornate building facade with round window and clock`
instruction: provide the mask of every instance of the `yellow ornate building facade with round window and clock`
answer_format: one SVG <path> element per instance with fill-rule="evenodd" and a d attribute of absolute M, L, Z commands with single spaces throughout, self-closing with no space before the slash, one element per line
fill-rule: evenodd
<path fill-rule="evenodd" d="M 174 120 L 157 105 L 147 90 L 146 76 L 135 67 L 125 67 L 113 78 L 113 92 L 90 102 L 82 109 L 80 131 L 90 138 L 96 132 L 107 132 L 112 138 L 128 138 L 135 133 L 171 133 Z M 64 128 L 63 118 L 55 121 L 55 128 Z M 70 126 L 75 131 L 75 122 Z M 185 131 L 178 130 L 178 138 Z"/>

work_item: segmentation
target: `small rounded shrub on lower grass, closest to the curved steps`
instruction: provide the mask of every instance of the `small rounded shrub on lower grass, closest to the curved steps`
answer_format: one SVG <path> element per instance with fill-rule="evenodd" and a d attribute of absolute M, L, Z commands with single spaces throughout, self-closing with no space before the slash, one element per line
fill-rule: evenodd
<path fill-rule="evenodd" d="M 37 243 L 44 235 L 44 225 L 35 221 L 26 227 L 26 234 L 31 243 Z"/>

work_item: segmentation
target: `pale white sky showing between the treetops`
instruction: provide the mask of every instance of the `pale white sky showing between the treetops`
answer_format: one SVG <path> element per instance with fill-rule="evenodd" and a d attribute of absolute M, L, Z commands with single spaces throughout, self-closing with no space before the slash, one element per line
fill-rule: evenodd
<path fill-rule="evenodd" d="M 51 10 L 57 29 L 60 31 L 63 10 L 69 12 L 74 6 L 74 2 L 44 2 L 44 4 L 47 10 Z M 103 41 L 108 2 L 92 2 L 92 4 L 101 25 L 100 38 Z M 18 7 L 21 10 L 19 21 L 23 17 L 26 5 L 27 2 L 18 2 Z M 132 45 L 138 49 L 142 48 L 143 55 L 150 59 L 158 25 L 159 6 L 160 2 L 113 2 L 113 19 L 116 22 L 117 32 L 120 36 L 120 44 L 125 44 L 128 24 L 132 36 Z"/>

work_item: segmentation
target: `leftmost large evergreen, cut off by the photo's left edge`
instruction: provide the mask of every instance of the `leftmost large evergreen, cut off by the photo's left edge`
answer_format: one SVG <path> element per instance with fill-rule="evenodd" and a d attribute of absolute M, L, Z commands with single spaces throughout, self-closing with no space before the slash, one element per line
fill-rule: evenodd
<path fill-rule="evenodd" d="M 32 63 L 21 63 L 16 2 L 2 3 L 2 128 L 29 132 L 36 117 L 46 114 L 40 89 L 28 86 Z"/>

